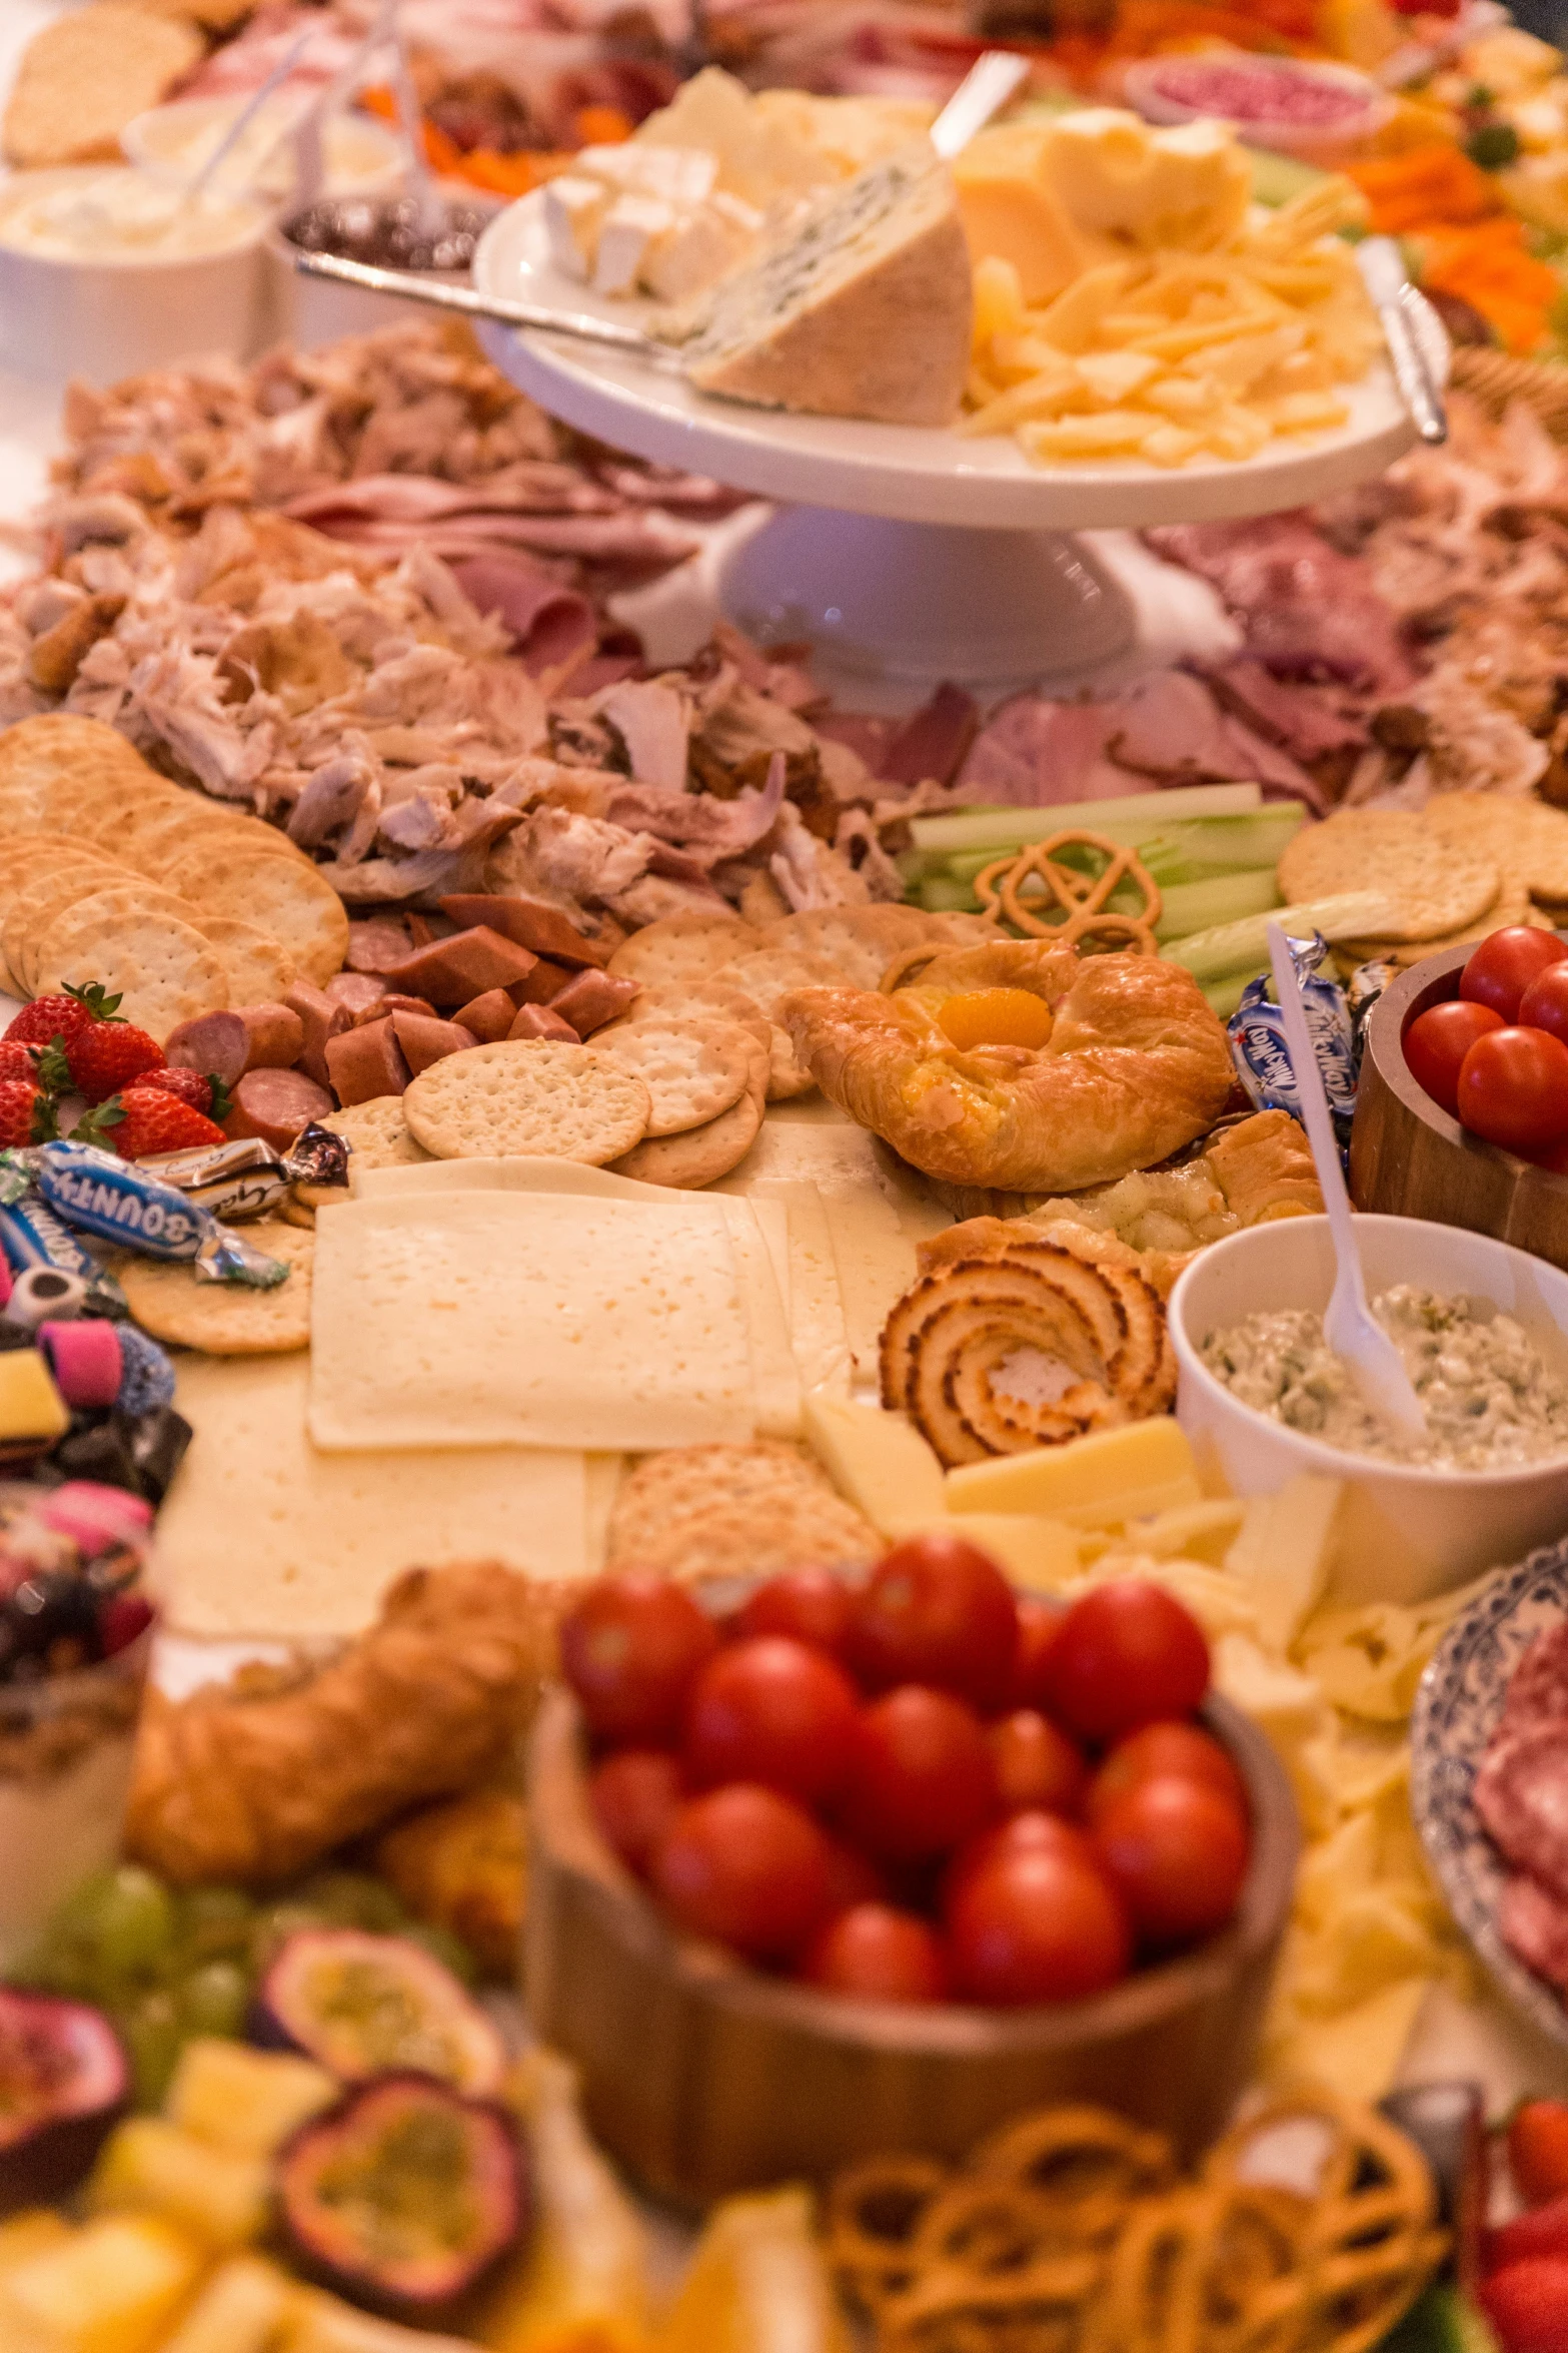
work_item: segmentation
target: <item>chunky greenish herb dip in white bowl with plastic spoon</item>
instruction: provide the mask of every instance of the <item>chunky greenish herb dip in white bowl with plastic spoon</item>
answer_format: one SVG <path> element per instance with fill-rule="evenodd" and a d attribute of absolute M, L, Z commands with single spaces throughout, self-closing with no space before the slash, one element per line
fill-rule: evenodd
<path fill-rule="evenodd" d="M 1246 1315 L 1211 1332 L 1201 1355 L 1244 1405 L 1345 1454 L 1432 1471 L 1505 1471 L 1568 1454 L 1568 1381 L 1490 1299 L 1441 1299 L 1396 1282 L 1373 1301 L 1373 1315 L 1415 1384 L 1425 1438 L 1401 1438 L 1366 1405 L 1312 1308 Z"/>

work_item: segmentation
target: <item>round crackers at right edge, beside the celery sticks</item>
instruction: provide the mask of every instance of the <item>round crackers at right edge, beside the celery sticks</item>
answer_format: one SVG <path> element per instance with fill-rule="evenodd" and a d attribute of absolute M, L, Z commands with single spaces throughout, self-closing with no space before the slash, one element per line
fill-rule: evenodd
<path fill-rule="evenodd" d="M 1439 793 L 1425 809 L 1338 809 L 1302 826 L 1279 861 L 1286 904 L 1378 889 L 1399 920 L 1380 939 L 1335 948 L 1345 972 L 1368 960 L 1418 965 L 1509 922 L 1568 918 L 1568 814 L 1516 793 Z"/>

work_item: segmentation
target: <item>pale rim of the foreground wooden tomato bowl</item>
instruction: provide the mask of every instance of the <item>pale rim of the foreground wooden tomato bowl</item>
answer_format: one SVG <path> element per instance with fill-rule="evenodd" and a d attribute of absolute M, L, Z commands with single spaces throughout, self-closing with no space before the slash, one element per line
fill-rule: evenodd
<path fill-rule="evenodd" d="M 529 1744 L 531 1840 L 550 1868 L 574 1878 L 609 1929 L 719 2009 L 759 2017 L 827 2042 L 936 2057 L 1065 2049 L 1135 2035 L 1199 2000 L 1225 1993 L 1244 1962 L 1269 1953 L 1288 1920 L 1300 1854 L 1291 1781 L 1267 1737 L 1211 1692 L 1201 1718 L 1241 1772 L 1253 1817 L 1253 1854 L 1237 1913 L 1192 1953 L 1133 1972 L 1081 2002 L 985 2009 L 978 2002 L 872 2002 L 769 1977 L 717 1944 L 682 1937 L 602 1838 L 588 1805 L 583 1718 L 564 1685 L 545 1692 Z"/>

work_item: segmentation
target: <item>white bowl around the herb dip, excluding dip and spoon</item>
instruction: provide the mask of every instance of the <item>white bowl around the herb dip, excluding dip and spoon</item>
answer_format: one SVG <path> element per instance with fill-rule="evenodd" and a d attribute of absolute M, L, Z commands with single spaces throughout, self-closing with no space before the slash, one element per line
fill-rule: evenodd
<path fill-rule="evenodd" d="M 1530 1332 L 1554 1367 L 1568 1362 L 1568 1275 L 1526 1249 L 1418 1217 L 1356 1217 L 1371 1297 L 1392 1282 L 1490 1299 Z M 1213 1242 L 1171 1292 L 1180 1367 L 1175 1419 L 1199 1461 L 1234 1494 L 1274 1494 L 1298 1471 L 1345 1480 L 1335 1593 L 1352 1602 L 1415 1602 L 1568 1529 L 1568 1454 L 1505 1471 L 1427 1471 L 1345 1454 L 1255 1412 L 1208 1372 L 1211 1332 L 1276 1308 L 1326 1308 L 1333 1245 L 1326 1217 L 1288 1217 Z"/>

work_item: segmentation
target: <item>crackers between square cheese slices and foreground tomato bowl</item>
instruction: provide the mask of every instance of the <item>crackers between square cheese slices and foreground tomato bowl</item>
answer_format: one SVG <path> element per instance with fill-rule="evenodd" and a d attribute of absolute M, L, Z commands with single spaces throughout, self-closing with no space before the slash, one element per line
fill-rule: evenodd
<path fill-rule="evenodd" d="M 875 1560 L 882 1539 L 818 1464 L 778 1438 L 750 1447 L 670 1447 L 625 1475 L 609 1518 L 607 1569 L 771 1577 L 802 1560 Z"/>

